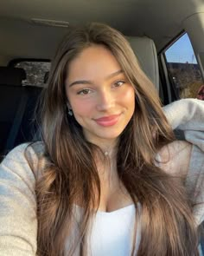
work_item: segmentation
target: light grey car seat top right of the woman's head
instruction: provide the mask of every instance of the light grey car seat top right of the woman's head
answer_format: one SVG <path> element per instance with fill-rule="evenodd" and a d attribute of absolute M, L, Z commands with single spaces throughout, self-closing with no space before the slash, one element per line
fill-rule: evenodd
<path fill-rule="evenodd" d="M 144 73 L 155 84 L 156 89 L 159 90 L 159 71 L 155 43 L 146 36 L 126 36 L 126 39 L 131 44 L 131 48 L 137 56 Z"/>

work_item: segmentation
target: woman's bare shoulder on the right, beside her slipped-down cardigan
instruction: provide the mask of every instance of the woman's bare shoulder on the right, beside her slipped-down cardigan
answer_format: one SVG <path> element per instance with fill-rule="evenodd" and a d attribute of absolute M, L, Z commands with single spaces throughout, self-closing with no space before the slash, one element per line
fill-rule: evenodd
<path fill-rule="evenodd" d="M 188 141 L 173 141 L 161 148 L 160 167 L 169 174 L 186 176 L 191 158 L 192 144 Z"/>

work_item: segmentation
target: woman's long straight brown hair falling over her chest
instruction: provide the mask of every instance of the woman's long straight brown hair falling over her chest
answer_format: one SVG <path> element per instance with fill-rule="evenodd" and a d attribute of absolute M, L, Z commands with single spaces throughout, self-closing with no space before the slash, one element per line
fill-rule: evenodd
<path fill-rule="evenodd" d="M 79 197 L 84 210 L 68 255 L 76 253 L 77 246 L 80 253 L 85 252 L 92 206 L 97 201 L 99 207 L 100 181 L 94 160 L 97 147 L 86 141 L 74 116 L 67 114 L 65 92 L 69 63 L 92 44 L 111 50 L 135 88 L 135 113 L 118 141 L 117 168 L 135 207 L 139 201 L 142 209 L 137 255 L 198 255 L 196 228 L 184 181 L 164 173 L 156 164 L 156 152 L 173 141 L 174 136 L 155 86 L 139 67 L 124 36 L 100 23 L 68 31 L 54 57 L 48 88 L 41 98 L 41 159 L 46 161 L 36 183 L 37 253 L 65 255 L 65 243 L 69 237 L 71 240 L 73 231 L 73 205 Z"/>

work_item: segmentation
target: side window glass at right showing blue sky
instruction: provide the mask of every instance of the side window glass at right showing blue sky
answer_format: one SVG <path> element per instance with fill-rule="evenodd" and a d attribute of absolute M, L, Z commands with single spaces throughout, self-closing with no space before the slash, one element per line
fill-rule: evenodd
<path fill-rule="evenodd" d="M 165 57 L 175 95 L 178 98 L 197 98 L 203 81 L 187 33 L 165 51 Z"/>

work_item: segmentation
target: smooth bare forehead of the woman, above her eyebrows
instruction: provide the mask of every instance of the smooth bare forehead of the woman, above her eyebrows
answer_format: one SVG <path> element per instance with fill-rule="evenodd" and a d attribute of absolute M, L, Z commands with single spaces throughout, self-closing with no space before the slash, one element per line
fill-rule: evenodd
<path fill-rule="evenodd" d="M 110 75 L 121 67 L 115 56 L 103 45 L 92 45 L 83 49 L 79 56 L 70 62 L 67 79 L 72 82 L 74 79 L 95 79 Z"/>

